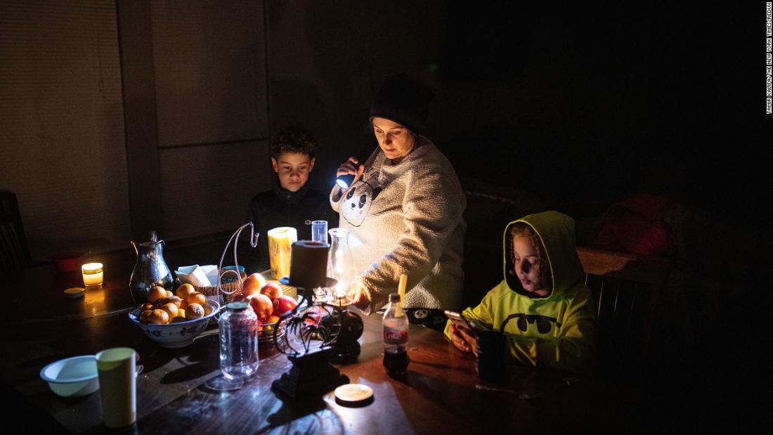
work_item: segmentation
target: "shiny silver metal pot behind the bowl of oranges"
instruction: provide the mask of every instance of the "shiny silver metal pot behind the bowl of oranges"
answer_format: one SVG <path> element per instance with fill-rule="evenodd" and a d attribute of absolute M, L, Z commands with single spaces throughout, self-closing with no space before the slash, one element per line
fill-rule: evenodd
<path fill-rule="evenodd" d="M 129 289 L 135 304 L 148 301 L 148 291 L 155 286 L 172 290 L 174 278 L 164 261 L 164 241 L 158 240 L 155 231 L 151 231 L 150 240 L 144 243 L 131 242 L 137 253 L 137 262 L 131 271 Z"/>

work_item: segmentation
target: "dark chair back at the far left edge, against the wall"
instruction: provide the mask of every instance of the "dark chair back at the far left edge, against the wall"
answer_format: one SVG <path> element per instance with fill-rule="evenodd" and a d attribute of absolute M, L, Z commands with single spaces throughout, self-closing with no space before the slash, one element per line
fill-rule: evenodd
<path fill-rule="evenodd" d="M 16 195 L 0 192 L 0 271 L 6 273 L 31 264 Z"/>

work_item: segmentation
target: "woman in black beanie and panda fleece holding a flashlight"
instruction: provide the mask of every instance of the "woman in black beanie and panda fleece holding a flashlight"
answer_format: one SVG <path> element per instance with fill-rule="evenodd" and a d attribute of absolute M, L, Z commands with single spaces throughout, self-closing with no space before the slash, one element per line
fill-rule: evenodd
<path fill-rule="evenodd" d="M 409 320 L 442 330 L 443 310 L 461 304 L 466 201 L 451 163 L 420 134 L 431 97 L 404 75 L 383 83 L 370 108 L 379 148 L 364 165 L 350 157 L 338 168 L 355 178 L 349 189 L 335 186 L 330 202 L 350 231 L 356 306 L 379 310 L 406 274 Z"/>

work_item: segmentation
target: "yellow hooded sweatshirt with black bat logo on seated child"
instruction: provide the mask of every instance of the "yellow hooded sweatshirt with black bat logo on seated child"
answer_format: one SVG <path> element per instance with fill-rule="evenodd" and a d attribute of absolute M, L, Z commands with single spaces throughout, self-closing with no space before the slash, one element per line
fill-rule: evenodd
<path fill-rule="evenodd" d="M 545 297 L 523 290 L 513 274 L 509 229 L 516 222 L 531 226 L 545 247 L 553 277 L 553 288 Z M 577 257 L 574 219 L 555 211 L 525 216 L 506 226 L 503 242 L 505 279 L 462 315 L 505 334 L 509 355 L 518 362 L 590 375 L 595 304 Z M 445 328 L 449 337 L 450 325 L 449 321 Z"/>

